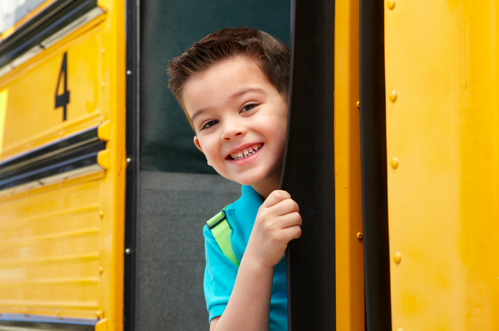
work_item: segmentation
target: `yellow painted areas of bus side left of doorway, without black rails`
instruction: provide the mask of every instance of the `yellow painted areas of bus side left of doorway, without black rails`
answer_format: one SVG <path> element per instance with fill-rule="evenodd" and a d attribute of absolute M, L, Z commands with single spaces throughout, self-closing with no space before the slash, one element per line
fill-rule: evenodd
<path fill-rule="evenodd" d="M 36 189 L 0 191 L 0 314 L 99 318 L 99 330 L 123 330 L 125 6 L 106 5 L 0 77 L 0 91 L 8 91 L 8 98 L 0 92 L 0 164 L 101 123 L 109 164 Z M 65 53 L 63 121 L 55 95 Z"/>

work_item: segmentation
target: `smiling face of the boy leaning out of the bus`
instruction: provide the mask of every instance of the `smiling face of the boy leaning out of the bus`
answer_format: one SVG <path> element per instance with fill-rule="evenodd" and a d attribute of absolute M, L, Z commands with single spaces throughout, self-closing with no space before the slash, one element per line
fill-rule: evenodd
<path fill-rule="evenodd" d="M 194 144 L 220 175 L 256 192 L 279 188 L 288 105 L 255 61 L 227 59 L 194 75 L 183 105 Z"/>

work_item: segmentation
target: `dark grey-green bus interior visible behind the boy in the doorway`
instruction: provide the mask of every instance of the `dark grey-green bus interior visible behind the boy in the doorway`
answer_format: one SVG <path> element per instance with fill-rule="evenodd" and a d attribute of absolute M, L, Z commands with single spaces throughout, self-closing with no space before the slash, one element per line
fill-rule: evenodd
<path fill-rule="evenodd" d="M 208 330 L 202 227 L 240 195 L 240 185 L 215 174 L 194 146 L 168 89 L 168 61 L 229 26 L 252 26 L 289 45 L 289 25 L 287 0 L 141 1 L 135 330 Z"/>

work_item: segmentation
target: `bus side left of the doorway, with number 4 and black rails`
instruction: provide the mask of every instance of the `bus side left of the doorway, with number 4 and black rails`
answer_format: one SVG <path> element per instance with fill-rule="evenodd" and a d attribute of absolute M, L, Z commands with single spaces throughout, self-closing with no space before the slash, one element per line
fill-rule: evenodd
<path fill-rule="evenodd" d="M 0 328 L 119 330 L 124 8 L 25 3 L 0 38 Z"/>

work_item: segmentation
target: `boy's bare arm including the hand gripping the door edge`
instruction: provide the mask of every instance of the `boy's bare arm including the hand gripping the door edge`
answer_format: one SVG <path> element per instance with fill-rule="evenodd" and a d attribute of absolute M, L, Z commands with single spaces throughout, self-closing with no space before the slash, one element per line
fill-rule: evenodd
<path fill-rule="evenodd" d="M 288 192 L 274 191 L 259 208 L 241 259 L 231 298 L 210 331 L 268 330 L 274 266 L 286 247 L 301 235 L 298 204 Z"/>

